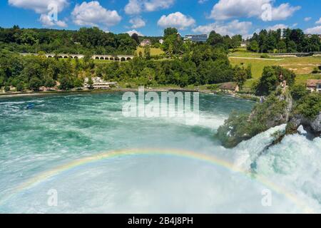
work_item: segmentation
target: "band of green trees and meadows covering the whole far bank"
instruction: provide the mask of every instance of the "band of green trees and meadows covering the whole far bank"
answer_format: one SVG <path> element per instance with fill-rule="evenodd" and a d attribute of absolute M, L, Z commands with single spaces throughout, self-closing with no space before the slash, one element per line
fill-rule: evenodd
<path fill-rule="evenodd" d="M 192 43 L 184 42 L 176 28 L 165 28 L 161 37 L 138 36 L 136 33 L 132 36 L 117 35 L 95 27 L 80 28 L 78 31 L 19 26 L 0 28 L 0 88 L 20 92 L 34 90 L 36 93 L 39 93 L 39 88 L 73 90 L 83 88 L 84 78 L 100 77 L 105 81 L 126 83 L 126 88 L 171 85 L 180 88 L 209 85 L 214 88 L 221 83 L 233 82 L 238 85 L 239 92 L 255 94 L 263 69 L 275 65 L 285 66 L 297 73 L 300 83 L 305 83 L 307 79 L 319 79 L 320 57 L 300 58 L 305 61 L 287 57 L 282 58 L 279 64 L 273 55 L 320 51 L 320 39 L 305 36 L 300 29 L 287 28 L 283 34 L 280 29 L 263 29 L 253 34 L 247 48 L 240 48 L 242 36 L 221 36 L 215 31 L 210 33 L 207 42 Z M 141 41 L 146 39 L 151 44 L 140 46 Z M 293 42 L 297 44 L 295 48 Z M 65 45 L 57 46 L 56 43 Z M 19 55 L 32 52 L 37 56 Z M 55 56 L 46 58 L 44 53 L 54 53 Z M 78 53 L 84 57 L 59 58 L 59 53 Z M 135 58 L 130 63 L 91 59 L 94 55 L 106 53 L 131 54 Z M 307 62 L 313 64 L 310 66 Z M 237 95 L 248 97 L 240 93 Z"/>

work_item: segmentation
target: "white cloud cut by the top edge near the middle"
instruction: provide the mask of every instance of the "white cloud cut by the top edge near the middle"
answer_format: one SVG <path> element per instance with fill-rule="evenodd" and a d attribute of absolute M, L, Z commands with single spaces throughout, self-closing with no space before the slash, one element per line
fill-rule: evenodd
<path fill-rule="evenodd" d="M 141 14 L 142 11 L 158 11 L 173 6 L 175 0 L 129 0 L 125 6 L 126 14 Z"/>

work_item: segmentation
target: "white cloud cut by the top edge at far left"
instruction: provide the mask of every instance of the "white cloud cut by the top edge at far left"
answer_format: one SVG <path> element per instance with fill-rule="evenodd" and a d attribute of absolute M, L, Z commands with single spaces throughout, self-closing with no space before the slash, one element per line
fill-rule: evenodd
<path fill-rule="evenodd" d="M 48 13 L 51 9 L 49 6 L 56 6 L 58 12 L 68 6 L 68 0 L 9 0 L 9 5 L 23 9 L 32 9 L 37 14 Z"/>

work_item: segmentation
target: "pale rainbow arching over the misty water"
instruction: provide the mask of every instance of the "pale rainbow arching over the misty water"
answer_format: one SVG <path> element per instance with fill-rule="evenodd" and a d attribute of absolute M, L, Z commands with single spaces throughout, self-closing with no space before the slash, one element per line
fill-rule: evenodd
<path fill-rule="evenodd" d="M 262 185 L 265 185 L 270 190 L 273 190 L 274 192 L 277 192 L 279 195 L 285 195 L 287 199 L 290 199 L 291 202 L 295 203 L 297 207 L 302 209 L 302 212 L 304 213 L 314 213 L 314 211 L 307 207 L 307 205 L 303 202 L 301 202 L 295 195 L 292 195 L 292 193 L 287 192 L 282 187 L 275 185 L 273 182 L 270 182 L 265 177 L 262 177 L 260 175 L 253 175 L 252 172 L 249 172 L 247 170 L 242 170 L 239 167 L 235 167 L 230 162 L 227 162 L 225 160 L 218 159 L 217 157 L 214 157 L 213 155 L 205 155 L 203 153 L 198 152 L 192 152 L 192 151 L 186 151 L 186 150 L 173 150 L 173 149 L 131 149 L 131 150 L 116 150 L 112 152 L 104 152 L 98 155 L 93 155 L 91 157 L 84 157 L 78 160 L 74 160 L 73 162 L 67 163 L 65 165 L 58 166 L 54 168 L 53 170 L 49 170 L 47 172 L 43 172 L 40 175 L 37 175 L 36 177 L 31 178 L 30 180 L 24 182 L 23 184 L 16 187 L 14 190 L 12 190 L 9 197 L 6 197 L 6 199 L 3 199 L 0 201 L 0 205 L 6 202 L 8 199 L 13 197 L 14 195 L 18 194 L 19 192 L 23 192 L 24 190 L 29 190 L 32 187 L 35 187 L 36 185 L 39 185 L 41 182 L 44 182 L 48 180 L 51 177 L 55 177 L 56 175 L 59 175 L 63 172 L 66 172 L 68 170 L 72 170 L 73 168 L 80 167 L 81 165 L 86 165 L 91 162 L 98 162 L 100 160 L 110 160 L 115 157 L 129 157 L 129 156 L 137 156 L 137 155 L 145 155 L 145 156 L 158 156 L 158 155 L 167 155 L 167 156 L 173 156 L 173 157 L 183 157 L 191 160 L 199 160 L 201 162 L 206 162 L 211 165 L 216 165 L 219 167 L 223 167 L 226 170 L 230 170 L 235 173 L 240 173 L 242 175 L 245 175 L 245 177 L 250 178 L 251 180 L 255 180 L 257 182 L 260 182 Z"/>

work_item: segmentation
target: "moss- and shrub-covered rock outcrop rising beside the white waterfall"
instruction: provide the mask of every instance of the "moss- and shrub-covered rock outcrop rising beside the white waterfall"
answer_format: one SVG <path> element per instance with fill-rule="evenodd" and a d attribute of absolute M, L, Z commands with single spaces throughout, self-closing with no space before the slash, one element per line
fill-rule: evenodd
<path fill-rule="evenodd" d="M 231 148 L 282 124 L 287 124 L 285 134 L 297 133 L 302 125 L 309 135 L 317 137 L 321 133 L 321 95 L 307 95 L 305 99 L 298 103 L 289 91 L 279 89 L 269 95 L 264 103 L 255 105 L 250 115 L 232 113 L 218 128 L 217 137 L 224 147 Z M 284 134 L 277 135 L 275 143 L 283 137 Z"/>

